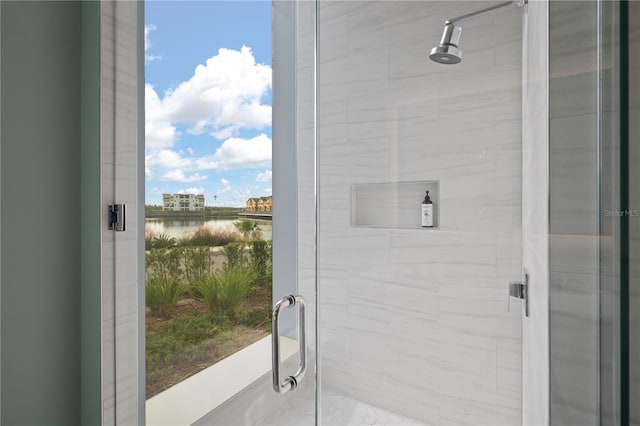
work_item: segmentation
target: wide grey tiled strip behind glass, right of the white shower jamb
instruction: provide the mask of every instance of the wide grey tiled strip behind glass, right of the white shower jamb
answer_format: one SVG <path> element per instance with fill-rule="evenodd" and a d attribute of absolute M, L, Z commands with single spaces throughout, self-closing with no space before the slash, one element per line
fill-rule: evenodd
<path fill-rule="evenodd" d="M 598 424 L 598 3 L 549 16 L 550 424 Z"/>

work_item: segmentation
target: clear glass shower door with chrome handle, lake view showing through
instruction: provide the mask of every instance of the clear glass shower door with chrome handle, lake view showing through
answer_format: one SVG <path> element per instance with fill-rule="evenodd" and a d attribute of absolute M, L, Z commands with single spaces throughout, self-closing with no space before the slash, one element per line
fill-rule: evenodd
<path fill-rule="evenodd" d="M 313 95 L 312 68 L 295 62 L 296 48 L 313 57 L 313 7 L 294 48 L 300 10 L 280 3 L 146 4 L 148 424 L 282 424 L 291 407 L 308 415 L 295 424 L 315 421 L 315 357 L 293 392 L 276 394 L 271 375 L 279 299 L 306 299 L 315 347 L 314 271 L 296 262 L 314 244 L 297 240 L 295 208 L 313 111 L 303 135 L 294 108 L 296 85 Z M 296 311 L 280 319 L 283 379 L 299 364 Z"/>

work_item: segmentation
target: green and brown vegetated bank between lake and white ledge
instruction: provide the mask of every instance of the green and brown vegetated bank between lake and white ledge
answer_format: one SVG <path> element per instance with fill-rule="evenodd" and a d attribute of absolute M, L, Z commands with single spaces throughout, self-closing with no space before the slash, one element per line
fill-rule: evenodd
<path fill-rule="evenodd" d="M 195 235 L 202 242 L 214 233 Z M 217 250 L 162 238 L 166 244 L 153 248 L 158 237 L 149 238 L 146 255 L 147 398 L 271 331 L 270 242 Z"/>

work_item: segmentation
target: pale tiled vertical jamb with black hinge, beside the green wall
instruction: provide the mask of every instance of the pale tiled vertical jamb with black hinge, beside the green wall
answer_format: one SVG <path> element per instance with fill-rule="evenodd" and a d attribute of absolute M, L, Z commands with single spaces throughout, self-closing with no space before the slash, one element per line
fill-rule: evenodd
<path fill-rule="evenodd" d="M 143 2 L 100 2 L 104 425 L 145 424 L 143 28 Z M 115 203 L 126 205 L 125 232 L 109 230 L 108 209 Z"/>

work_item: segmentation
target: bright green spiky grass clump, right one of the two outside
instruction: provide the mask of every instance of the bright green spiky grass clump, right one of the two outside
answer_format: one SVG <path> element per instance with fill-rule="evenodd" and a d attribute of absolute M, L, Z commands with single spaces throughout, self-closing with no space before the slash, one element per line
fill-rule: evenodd
<path fill-rule="evenodd" d="M 206 275 L 197 287 L 212 311 L 230 312 L 249 296 L 255 280 L 251 268 L 227 267 Z"/>

